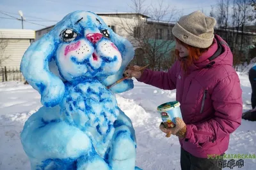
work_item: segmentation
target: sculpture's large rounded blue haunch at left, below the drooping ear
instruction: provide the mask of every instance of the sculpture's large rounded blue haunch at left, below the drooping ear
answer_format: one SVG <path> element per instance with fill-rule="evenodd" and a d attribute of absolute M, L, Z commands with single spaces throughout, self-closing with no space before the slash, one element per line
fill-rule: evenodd
<path fill-rule="evenodd" d="M 92 150 L 90 138 L 77 127 L 55 119 L 55 111 L 58 108 L 41 108 L 24 125 L 20 138 L 29 159 L 76 158 Z"/>

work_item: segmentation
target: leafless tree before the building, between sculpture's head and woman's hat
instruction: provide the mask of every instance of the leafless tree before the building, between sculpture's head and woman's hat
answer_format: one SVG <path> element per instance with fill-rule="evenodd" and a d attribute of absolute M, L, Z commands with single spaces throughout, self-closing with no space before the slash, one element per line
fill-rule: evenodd
<path fill-rule="evenodd" d="M 175 10 L 164 4 L 163 0 L 157 4 L 145 5 L 145 0 L 132 0 L 134 17 L 119 18 L 118 25 L 136 49 L 133 64 L 142 65 L 147 61 L 154 70 L 166 69 L 166 60 L 170 60 L 170 53 L 174 45 L 172 36 L 172 21 Z M 167 28 L 167 29 L 166 29 Z M 169 62 L 170 63 L 170 62 Z"/>

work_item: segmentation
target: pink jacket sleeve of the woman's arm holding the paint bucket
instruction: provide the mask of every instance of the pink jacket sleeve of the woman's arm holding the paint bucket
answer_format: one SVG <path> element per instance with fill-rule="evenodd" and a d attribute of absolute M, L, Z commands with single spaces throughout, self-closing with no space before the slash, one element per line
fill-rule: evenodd
<path fill-rule="evenodd" d="M 214 118 L 201 124 L 188 124 L 186 141 L 195 145 L 214 142 L 236 131 L 241 125 L 243 100 L 237 74 L 221 80 L 212 91 Z"/>

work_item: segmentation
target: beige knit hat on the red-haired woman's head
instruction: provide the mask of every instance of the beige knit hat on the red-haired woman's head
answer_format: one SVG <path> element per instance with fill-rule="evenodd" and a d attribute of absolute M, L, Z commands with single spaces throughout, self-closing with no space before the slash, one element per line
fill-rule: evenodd
<path fill-rule="evenodd" d="M 214 38 L 215 18 L 207 17 L 201 11 L 180 17 L 172 34 L 180 41 L 198 48 L 208 48 Z"/>

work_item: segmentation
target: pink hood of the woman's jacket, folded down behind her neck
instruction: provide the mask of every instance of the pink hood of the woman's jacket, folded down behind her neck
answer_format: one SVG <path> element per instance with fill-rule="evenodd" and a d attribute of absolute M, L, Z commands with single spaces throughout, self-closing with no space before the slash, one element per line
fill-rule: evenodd
<path fill-rule="evenodd" d="M 228 44 L 218 35 L 214 35 L 212 45 L 194 62 L 191 70 L 202 69 L 216 65 L 233 65 L 233 55 Z"/>

